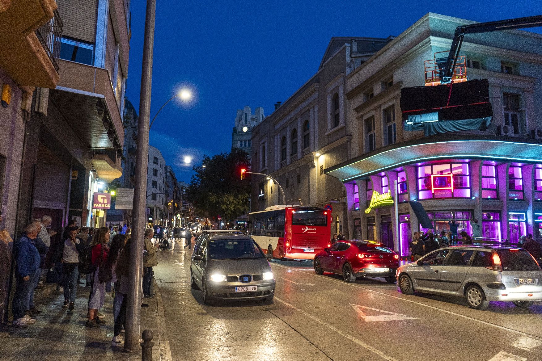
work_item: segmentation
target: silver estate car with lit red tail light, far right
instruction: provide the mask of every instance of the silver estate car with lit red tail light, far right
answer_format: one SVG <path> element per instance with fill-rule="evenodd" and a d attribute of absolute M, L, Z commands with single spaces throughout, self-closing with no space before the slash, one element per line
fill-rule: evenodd
<path fill-rule="evenodd" d="M 397 269 L 399 289 L 463 297 L 483 310 L 489 301 L 530 307 L 542 300 L 542 270 L 524 249 L 451 246 Z"/>

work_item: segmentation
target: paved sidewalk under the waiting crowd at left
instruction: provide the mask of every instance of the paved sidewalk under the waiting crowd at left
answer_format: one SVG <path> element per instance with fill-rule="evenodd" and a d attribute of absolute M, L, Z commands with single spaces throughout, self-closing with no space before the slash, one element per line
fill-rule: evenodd
<path fill-rule="evenodd" d="M 111 345 L 113 337 L 113 298 L 106 295 L 104 308 L 106 325 L 87 328 L 87 302 L 90 288 L 79 285 L 75 310 L 63 308 L 64 296 L 56 285 L 46 285 L 36 291 L 36 307 L 43 312 L 36 315 L 36 323 L 27 328 L 0 325 L 0 361 L 109 361 L 141 360 L 139 352 L 125 353 Z M 162 295 L 145 299 L 149 307 L 141 308 L 141 332 L 149 329 L 153 337 L 153 361 L 170 361 L 169 342 L 165 338 L 165 318 Z M 124 336 L 124 333 L 122 334 Z"/>

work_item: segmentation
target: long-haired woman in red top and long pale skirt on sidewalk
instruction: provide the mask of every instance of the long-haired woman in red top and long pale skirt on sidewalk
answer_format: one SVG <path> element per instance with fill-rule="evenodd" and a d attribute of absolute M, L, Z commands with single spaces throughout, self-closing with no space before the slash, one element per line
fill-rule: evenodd
<path fill-rule="evenodd" d="M 105 324 L 105 320 L 100 318 L 98 310 L 104 306 L 105 301 L 105 280 L 100 280 L 100 267 L 107 260 L 109 251 L 107 242 L 111 231 L 107 227 L 101 227 L 92 238 L 92 266 L 94 271 L 91 274 L 91 295 L 88 298 L 88 320 L 87 327 L 99 328 Z"/>

